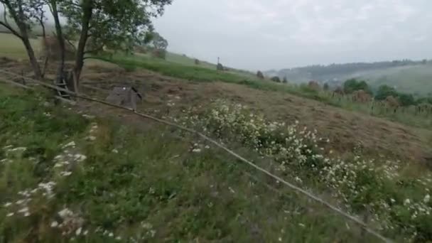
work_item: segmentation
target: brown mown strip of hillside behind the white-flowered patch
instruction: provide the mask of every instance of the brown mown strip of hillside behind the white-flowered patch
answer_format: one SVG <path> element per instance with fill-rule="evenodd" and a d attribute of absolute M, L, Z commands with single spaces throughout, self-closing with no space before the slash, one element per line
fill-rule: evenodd
<path fill-rule="evenodd" d="M 320 136 L 330 139 L 331 148 L 341 155 L 362 149 L 363 153 L 374 157 L 390 156 L 407 163 L 425 163 L 432 158 L 432 131 L 349 112 L 282 92 L 254 90 L 224 82 L 190 82 L 146 70 L 125 72 L 117 67 L 99 65 L 85 68 L 81 84 L 83 92 L 99 98 L 107 97 L 112 87 L 133 85 L 144 95 L 137 109 L 159 117 L 174 117 L 188 107 L 204 109 L 212 99 L 222 98 L 246 104 L 268 119 L 288 123 L 298 120 L 309 129 L 317 129 Z M 148 125 L 148 121 L 127 112 L 91 107 L 91 104 L 86 104 L 85 110 L 104 115 L 116 114 L 124 121 Z"/>

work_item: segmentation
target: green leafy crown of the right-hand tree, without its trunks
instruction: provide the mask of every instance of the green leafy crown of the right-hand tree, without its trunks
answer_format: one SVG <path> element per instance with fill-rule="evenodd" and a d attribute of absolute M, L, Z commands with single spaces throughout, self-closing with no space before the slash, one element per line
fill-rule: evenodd
<path fill-rule="evenodd" d="M 130 51 L 137 43 L 151 38 L 151 18 L 163 13 L 172 0 L 64 0 L 58 1 L 60 13 L 68 21 L 68 36 L 79 36 L 87 26 L 83 13 L 87 10 L 87 53 L 104 47 Z M 167 44 L 168 45 L 168 44 Z"/>

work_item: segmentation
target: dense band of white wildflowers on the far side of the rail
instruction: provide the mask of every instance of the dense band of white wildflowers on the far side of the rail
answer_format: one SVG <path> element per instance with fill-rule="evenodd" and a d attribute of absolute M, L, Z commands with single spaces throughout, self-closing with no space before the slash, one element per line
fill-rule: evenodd
<path fill-rule="evenodd" d="M 373 222 L 391 235 L 403 232 L 413 242 L 432 239 L 431 174 L 412 179 L 399 175 L 399 161 L 374 161 L 355 154 L 330 157 L 323 148 L 328 139 L 300 123 L 267 121 L 242 104 L 217 100 L 204 114 L 185 111 L 184 123 L 203 127 L 220 139 L 234 139 L 261 156 L 272 158 L 284 175 L 305 186 L 326 185 L 353 213 L 366 210 Z M 408 199 L 410 198 L 410 199 Z"/>

